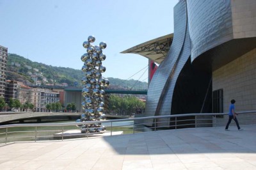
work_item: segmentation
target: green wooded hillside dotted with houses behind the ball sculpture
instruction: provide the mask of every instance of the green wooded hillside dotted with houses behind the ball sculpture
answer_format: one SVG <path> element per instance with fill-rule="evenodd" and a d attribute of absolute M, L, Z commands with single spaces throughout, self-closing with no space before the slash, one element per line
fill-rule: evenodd
<path fill-rule="evenodd" d="M 75 82 L 77 82 L 78 86 L 81 86 L 81 79 L 84 77 L 84 73 L 81 70 L 45 65 L 44 63 L 33 62 L 17 54 L 8 54 L 6 79 L 22 81 L 31 86 L 34 83 L 31 75 L 35 74 L 40 74 L 40 76 L 37 76 L 38 81 L 42 81 L 43 85 L 67 83 L 68 86 L 75 86 Z M 43 79 L 47 79 L 48 82 L 44 82 Z M 122 80 L 113 77 L 108 77 L 108 79 L 111 84 L 109 88 L 147 89 L 147 82 L 133 79 Z"/>

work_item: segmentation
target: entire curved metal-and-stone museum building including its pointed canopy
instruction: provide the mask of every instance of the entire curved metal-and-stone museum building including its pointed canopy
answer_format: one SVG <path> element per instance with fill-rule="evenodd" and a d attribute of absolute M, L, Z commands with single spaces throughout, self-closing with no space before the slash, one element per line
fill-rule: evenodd
<path fill-rule="evenodd" d="M 174 33 L 162 45 L 170 43 L 168 52 L 154 58 L 149 48 L 138 51 L 155 40 L 122 52 L 159 63 L 145 116 L 228 112 L 232 98 L 236 111 L 256 110 L 256 0 L 180 0 Z"/>

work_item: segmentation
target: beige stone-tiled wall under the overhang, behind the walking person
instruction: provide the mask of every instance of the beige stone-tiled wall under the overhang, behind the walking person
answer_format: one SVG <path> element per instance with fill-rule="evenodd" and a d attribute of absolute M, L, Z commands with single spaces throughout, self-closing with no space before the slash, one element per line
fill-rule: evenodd
<path fill-rule="evenodd" d="M 224 112 L 232 98 L 236 111 L 256 110 L 256 49 L 214 71 L 212 91 L 216 89 L 223 89 Z"/>

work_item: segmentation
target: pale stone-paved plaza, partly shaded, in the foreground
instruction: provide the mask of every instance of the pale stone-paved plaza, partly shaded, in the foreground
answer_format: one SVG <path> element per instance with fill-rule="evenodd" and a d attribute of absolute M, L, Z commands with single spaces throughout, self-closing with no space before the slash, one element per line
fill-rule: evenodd
<path fill-rule="evenodd" d="M 0 147 L 0 169 L 256 169 L 256 125 Z"/>

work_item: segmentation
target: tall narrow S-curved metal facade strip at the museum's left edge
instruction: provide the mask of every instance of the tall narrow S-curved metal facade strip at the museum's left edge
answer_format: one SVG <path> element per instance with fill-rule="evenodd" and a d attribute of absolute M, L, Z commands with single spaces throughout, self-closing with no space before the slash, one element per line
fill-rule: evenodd
<path fill-rule="evenodd" d="M 173 36 L 173 43 L 168 55 L 154 73 L 154 77 L 148 88 L 145 110 L 147 116 L 170 114 L 172 96 L 167 96 L 166 93 L 172 93 L 172 91 L 168 91 L 170 81 L 171 84 L 175 84 L 175 80 L 177 79 L 176 68 L 179 66 L 180 54 L 187 33 L 186 1 L 184 0 L 179 1 L 174 8 L 174 23 L 175 35 Z M 167 105 L 165 104 L 163 107 L 163 103 L 167 103 Z M 159 112 L 160 110 L 161 112 Z"/>

